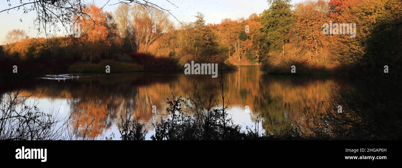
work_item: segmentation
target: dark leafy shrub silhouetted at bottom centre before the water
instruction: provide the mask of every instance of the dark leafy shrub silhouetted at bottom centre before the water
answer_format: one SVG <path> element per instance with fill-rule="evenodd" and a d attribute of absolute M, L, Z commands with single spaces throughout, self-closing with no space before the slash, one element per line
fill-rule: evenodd
<path fill-rule="evenodd" d="M 222 92 L 223 93 L 223 92 Z M 173 96 L 173 95 L 172 95 Z M 195 85 L 193 99 L 180 97 L 168 99 L 170 114 L 167 120 L 154 124 L 155 135 L 152 140 L 260 140 L 271 137 L 260 134 L 258 129 L 234 124 L 225 112 L 227 106 L 219 104 L 213 95 L 202 98 Z M 183 111 L 182 107 L 186 107 Z M 190 115 L 187 115 L 187 114 Z M 192 115 L 191 115 L 192 114 Z M 256 122 L 255 127 L 258 125 Z"/>

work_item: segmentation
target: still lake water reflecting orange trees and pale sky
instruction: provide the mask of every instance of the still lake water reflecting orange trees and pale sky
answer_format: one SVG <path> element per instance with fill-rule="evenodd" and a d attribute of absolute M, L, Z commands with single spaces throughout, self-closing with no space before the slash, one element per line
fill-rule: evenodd
<path fill-rule="evenodd" d="M 43 76 L 23 86 L 23 95 L 32 95 L 44 111 L 59 111 L 60 117 L 70 117 L 77 129 L 88 123 L 99 130 L 95 136 L 115 134 L 119 139 L 117 123 L 128 111 L 154 134 L 152 123 L 166 119 L 166 98 L 190 97 L 196 82 L 203 95 L 220 95 L 220 75 L 177 74 L 69 74 Z M 234 123 L 243 128 L 258 124 L 261 132 L 275 134 L 289 126 L 291 119 L 303 117 L 306 105 L 325 101 L 340 82 L 332 77 L 309 75 L 267 75 L 258 66 L 241 66 L 224 73 L 225 103 Z M 22 87 L 21 87 L 22 88 Z M 21 89 L 18 88 L 18 89 Z M 156 113 L 152 107 L 156 106 Z M 70 128 L 75 129 L 75 128 Z"/>

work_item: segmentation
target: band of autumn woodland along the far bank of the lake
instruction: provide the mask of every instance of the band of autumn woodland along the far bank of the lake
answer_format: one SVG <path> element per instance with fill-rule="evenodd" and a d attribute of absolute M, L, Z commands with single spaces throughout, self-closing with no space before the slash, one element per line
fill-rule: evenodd
<path fill-rule="evenodd" d="M 80 24 L 79 38 L 28 38 L 24 30 L 9 32 L 0 67 L 5 73 L 10 65 L 23 65 L 23 72 L 82 72 L 100 71 L 102 61 L 117 61 L 132 64 L 119 71 L 176 71 L 196 61 L 228 69 L 260 64 L 268 73 L 290 73 L 292 65 L 297 73 L 372 74 L 382 73 L 385 65 L 395 73 L 402 51 L 400 6 L 398 0 L 307 0 L 295 5 L 269 0 L 267 10 L 248 18 L 207 24 L 198 12 L 194 22 L 176 24 L 169 13 L 139 4 L 120 4 L 113 12 L 88 4 L 86 15 L 71 18 Z M 356 37 L 323 34 L 322 25 L 329 21 L 356 23 Z"/>

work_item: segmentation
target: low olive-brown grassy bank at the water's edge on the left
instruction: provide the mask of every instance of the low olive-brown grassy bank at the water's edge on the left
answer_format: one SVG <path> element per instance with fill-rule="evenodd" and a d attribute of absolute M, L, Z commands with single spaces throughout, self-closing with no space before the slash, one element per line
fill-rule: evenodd
<path fill-rule="evenodd" d="M 142 66 L 136 63 L 122 63 L 112 60 L 104 60 L 100 63 L 74 63 L 67 69 L 68 72 L 105 72 L 106 66 L 110 66 L 111 72 L 135 72 L 143 71 Z"/>

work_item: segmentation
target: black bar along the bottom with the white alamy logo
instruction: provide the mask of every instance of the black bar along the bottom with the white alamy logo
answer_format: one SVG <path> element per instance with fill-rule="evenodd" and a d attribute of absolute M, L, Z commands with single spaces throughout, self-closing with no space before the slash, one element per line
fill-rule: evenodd
<path fill-rule="evenodd" d="M 2 141 L 0 160 L 5 164 L 55 166 L 160 164 L 191 161 L 217 164 L 389 164 L 400 160 L 400 141 Z M 16 159 L 16 149 L 47 149 L 47 161 Z M 346 152 L 346 149 L 365 152 Z M 367 152 L 367 149 L 386 151 Z M 386 156 L 382 160 L 345 156 Z M 224 160 L 222 160 L 224 158 Z M 68 165 L 66 165 L 68 166 Z M 137 165 L 140 166 L 140 165 Z"/>

